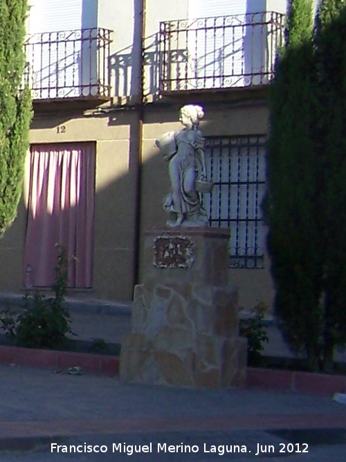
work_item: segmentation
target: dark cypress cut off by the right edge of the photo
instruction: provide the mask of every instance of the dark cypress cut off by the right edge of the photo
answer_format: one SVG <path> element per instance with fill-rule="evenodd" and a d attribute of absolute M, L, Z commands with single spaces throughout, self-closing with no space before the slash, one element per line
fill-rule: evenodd
<path fill-rule="evenodd" d="M 323 364 L 346 344 L 346 7 L 324 0 L 316 26 L 318 111 L 315 141 L 323 254 Z"/>

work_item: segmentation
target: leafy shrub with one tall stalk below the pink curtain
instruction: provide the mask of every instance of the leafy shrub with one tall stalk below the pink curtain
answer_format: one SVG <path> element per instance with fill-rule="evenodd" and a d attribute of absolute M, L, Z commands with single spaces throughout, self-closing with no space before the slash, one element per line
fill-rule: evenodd
<path fill-rule="evenodd" d="M 68 283 L 69 262 L 66 251 L 57 246 L 56 281 L 53 286 L 55 296 L 46 296 L 37 292 L 33 296 L 23 297 L 22 311 L 17 317 L 10 310 L 0 313 L 1 329 L 6 337 L 18 346 L 28 348 L 55 348 L 66 340 L 66 334 L 73 334 L 70 328 L 71 316 L 64 307 L 64 296 Z"/>

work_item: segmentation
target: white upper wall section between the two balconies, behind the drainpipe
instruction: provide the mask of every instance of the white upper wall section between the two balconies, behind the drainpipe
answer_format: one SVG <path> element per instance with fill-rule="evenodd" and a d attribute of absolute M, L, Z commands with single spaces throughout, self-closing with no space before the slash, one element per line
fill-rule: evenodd
<path fill-rule="evenodd" d="M 183 19 L 188 15 L 187 0 L 99 0 L 99 26 L 111 28 L 111 75 L 113 96 L 119 104 L 136 103 L 141 79 L 141 17 L 145 18 L 144 93 L 157 91 L 158 31 L 160 21 Z"/>

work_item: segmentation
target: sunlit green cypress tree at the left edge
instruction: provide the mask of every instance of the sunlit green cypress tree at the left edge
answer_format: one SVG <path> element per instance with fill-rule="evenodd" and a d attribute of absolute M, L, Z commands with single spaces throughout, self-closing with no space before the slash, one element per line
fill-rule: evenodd
<path fill-rule="evenodd" d="M 24 72 L 27 0 L 0 0 L 0 237 L 17 216 L 32 118 Z"/>

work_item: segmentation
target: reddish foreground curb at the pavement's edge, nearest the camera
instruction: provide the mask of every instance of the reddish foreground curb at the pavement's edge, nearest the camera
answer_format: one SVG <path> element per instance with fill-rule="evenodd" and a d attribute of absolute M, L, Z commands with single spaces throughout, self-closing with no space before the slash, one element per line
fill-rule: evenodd
<path fill-rule="evenodd" d="M 325 424 L 328 423 L 326 426 Z M 345 441 L 345 414 L 280 414 L 205 416 L 130 416 L 117 418 L 51 419 L 21 422 L 3 422 L 0 451 L 24 452 L 44 450 L 51 443 L 65 444 L 70 438 L 86 438 L 96 435 L 118 436 L 124 434 L 147 434 L 179 432 L 257 432 L 279 436 L 291 443 L 340 444 Z M 0 453 L 1 459 L 1 453 Z"/>

